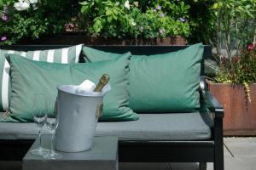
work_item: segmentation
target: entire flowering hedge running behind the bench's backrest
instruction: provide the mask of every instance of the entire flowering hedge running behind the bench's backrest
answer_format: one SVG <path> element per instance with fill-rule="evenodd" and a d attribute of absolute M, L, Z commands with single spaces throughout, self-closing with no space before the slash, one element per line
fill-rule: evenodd
<path fill-rule="evenodd" d="M 0 44 L 66 31 L 103 37 L 208 35 L 213 0 L 0 0 Z"/>

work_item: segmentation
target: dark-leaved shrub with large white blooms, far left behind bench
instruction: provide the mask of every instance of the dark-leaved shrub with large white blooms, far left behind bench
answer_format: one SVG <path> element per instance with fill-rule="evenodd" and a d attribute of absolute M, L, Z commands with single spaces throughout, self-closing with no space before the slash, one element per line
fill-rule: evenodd
<path fill-rule="evenodd" d="M 68 0 L 2 1 L 0 44 L 12 44 L 25 37 L 37 39 L 43 35 L 63 32 L 66 21 L 71 18 L 73 10 L 79 5 Z M 71 5 L 73 10 L 68 11 L 67 8 Z"/>

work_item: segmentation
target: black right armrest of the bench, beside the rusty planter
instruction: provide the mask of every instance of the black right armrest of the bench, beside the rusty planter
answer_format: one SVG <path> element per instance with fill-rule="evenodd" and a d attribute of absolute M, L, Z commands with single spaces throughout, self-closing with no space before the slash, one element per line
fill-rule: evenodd
<path fill-rule="evenodd" d="M 208 91 L 208 85 L 205 81 L 204 77 L 201 77 L 200 81 L 201 87 L 201 97 L 202 97 L 202 105 L 206 106 L 209 111 L 214 113 L 215 117 L 224 117 L 224 108 L 222 105 L 218 103 L 218 99 L 216 99 L 210 91 Z"/>

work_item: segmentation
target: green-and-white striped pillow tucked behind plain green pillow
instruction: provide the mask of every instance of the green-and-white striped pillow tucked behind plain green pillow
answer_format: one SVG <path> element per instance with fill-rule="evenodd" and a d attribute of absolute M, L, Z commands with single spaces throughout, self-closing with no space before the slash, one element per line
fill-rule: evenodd
<path fill-rule="evenodd" d="M 9 81 L 9 63 L 4 54 L 19 54 L 27 59 L 47 61 L 49 63 L 79 63 L 82 44 L 69 48 L 58 48 L 37 51 L 14 51 L 0 49 L 0 111 L 9 109 L 10 99 L 10 81 Z"/>

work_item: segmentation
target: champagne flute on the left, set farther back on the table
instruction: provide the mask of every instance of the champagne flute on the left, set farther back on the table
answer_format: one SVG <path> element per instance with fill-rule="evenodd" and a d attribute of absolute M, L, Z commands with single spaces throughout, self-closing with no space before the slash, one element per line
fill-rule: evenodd
<path fill-rule="evenodd" d="M 44 124 L 46 122 L 46 99 L 44 94 L 34 94 L 34 100 L 33 100 L 33 119 L 38 127 L 38 140 L 39 140 L 39 147 L 31 150 L 32 154 L 34 155 L 43 155 L 44 149 L 41 146 L 41 131 L 42 127 L 44 127 Z"/>

